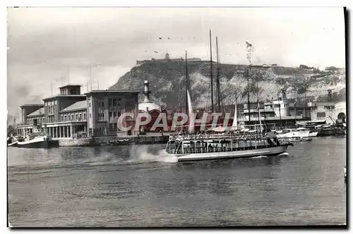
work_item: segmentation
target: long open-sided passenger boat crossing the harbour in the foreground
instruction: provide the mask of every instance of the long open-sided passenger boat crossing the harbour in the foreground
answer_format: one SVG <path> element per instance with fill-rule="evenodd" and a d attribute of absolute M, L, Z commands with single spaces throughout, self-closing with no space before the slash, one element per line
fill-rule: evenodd
<path fill-rule="evenodd" d="M 165 153 L 178 161 L 237 159 L 253 156 L 275 156 L 287 152 L 291 142 L 281 143 L 274 133 L 172 135 Z"/>

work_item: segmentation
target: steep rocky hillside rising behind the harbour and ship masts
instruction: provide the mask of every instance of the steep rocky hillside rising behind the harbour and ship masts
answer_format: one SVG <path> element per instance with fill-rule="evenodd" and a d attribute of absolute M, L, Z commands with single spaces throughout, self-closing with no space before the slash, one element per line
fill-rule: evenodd
<path fill-rule="evenodd" d="M 244 71 L 247 66 L 236 64 L 220 65 L 220 80 L 224 104 L 233 104 L 247 99 L 247 79 Z M 210 105 L 210 63 L 188 63 L 191 80 L 191 92 L 194 106 Z M 216 68 L 213 66 L 213 77 Z M 261 66 L 250 70 L 250 99 L 256 100 L 256 80 L 258 80 L 258 96 L 261 101 L 277 98 L 277 92 L 287 90 L 289 99 L 303 101 L 323 101 L 328 98 L 328 90 L 332 90 L 333 101 L 345 100 L 345 71 L 339 73 L 323 73 L 302 68 L 285 68 Z M 152 99 L 160 104 L 173 107 L 184 106 L 185 103 L 185 64 L 181 62 L 148 62 L 133 67 L 119 78 L 109 90 L 141 90 L 143 80 L 150 82 Z M 214 85 L 215 90 L 215 85 Z M 142 94 L 141 94 L 142 95 Z M 142 96 L 141 96 L 142 97 Z M 215 94 L 214 94 L 215 97 Z"/>

